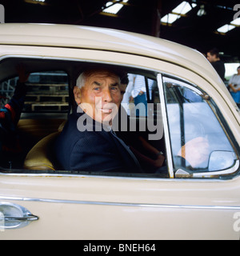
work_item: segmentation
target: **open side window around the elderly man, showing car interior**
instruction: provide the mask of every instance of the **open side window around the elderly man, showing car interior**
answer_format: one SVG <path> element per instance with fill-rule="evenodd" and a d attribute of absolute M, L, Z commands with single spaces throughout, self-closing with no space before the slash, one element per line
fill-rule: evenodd
<path fill-rule="evenodd" d="M 13 69 L 17 60 L 14 61 Z M 94 166 L 96 171 L 91 172 L 71 171 L 63 169 L 56 162 L 54 142 L 62 133 L 68 115 L 74 111 L 72 91 L 75 86 L 74 81 L 76 81 L 76 70 L 81 70 L 83 63 L 52 61 L 51 64 L 51 61 L 47 60 L 45 62 L 38 64 L 37 59 L 26 59 L 27 65 L 34 67 L 32 68 L 34 72 L 31 72 L 26 82 L 27 94 L 24 107 L 14 131 L 19 151 L 4 151 L 0 160 L 3 173 L 169 178 L 162 111 L 154 72 L 121 67 L 129 81 L 122 91 L 122 112 L 120 112 L 122 116 L 119 115 L 120 122 L 118 127 L 114 126 L 114 132 L 126 144 L 126 147 L 132 150 L 141 166 L 141 172 L 136 174 L 132 170 L 126 170 L 124 174 L 120 172 L 101 174 L 98 172 L 98 166 Z M 84 62 L 84 68 L 86 65 L 87 63 Z M 10 67 L 9 62 L 7 66 Z M 47 70 L 40 70 L 39 66 L 41 69 L 47 66 Z M 51 66 L 61 66 L 61 69 L 50 70 Z M 13 96 L 17 80 L 18 78 L 14 77 L 2 81 L 2 107 Z M 161 161 L 159 161 L 160 158 Z"/>

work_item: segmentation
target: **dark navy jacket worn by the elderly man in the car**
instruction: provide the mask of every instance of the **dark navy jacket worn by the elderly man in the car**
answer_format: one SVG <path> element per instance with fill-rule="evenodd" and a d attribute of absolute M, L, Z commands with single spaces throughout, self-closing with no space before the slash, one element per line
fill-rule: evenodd
<path fill-rule="evenodd" d="M 101 123 L 85 117 L 88 116 L 74 110 L 55 142 L 56 157 L 62 169 L 139 173 L 138 160 L 126 144 L 112 131 L 104 130 Z"/>

